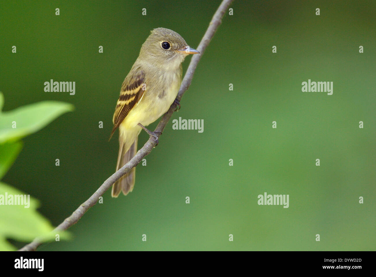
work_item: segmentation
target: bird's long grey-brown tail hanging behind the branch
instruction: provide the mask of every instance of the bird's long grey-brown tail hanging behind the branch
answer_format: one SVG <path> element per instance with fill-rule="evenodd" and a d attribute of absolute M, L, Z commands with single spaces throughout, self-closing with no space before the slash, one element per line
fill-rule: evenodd
<path fill-rule="evenodd" d="M 124 164 L 130 161 L 136 153 L 137 153 L 137 138 L 133 141 L 133 143 L 129 147 L 129 143 L 124 142 L 121 138 L 119 138 L 119 155 L 118 161 L 116 165 L 116 171 L 118 171 Z M 135 186 L 135 175 L 136 175 L 136 168 L 133 167 L 127 174 L 122 176 L 118 181 L 112 185 L 111 196 L 118 197 L 120 191 L 123 191 L 124 195 L 127 195 L 130 191 L 133 190 Z"/>

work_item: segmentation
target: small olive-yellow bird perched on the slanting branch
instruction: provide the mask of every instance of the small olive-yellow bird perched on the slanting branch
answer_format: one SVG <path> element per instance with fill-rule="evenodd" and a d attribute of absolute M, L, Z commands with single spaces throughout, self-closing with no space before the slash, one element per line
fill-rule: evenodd
<path fill-rule="evenodd" d="M 157 138 L 157 134 L 145 126 L 156 121 L 177 101 L 182 82 L 182 62 L 187 55 L 199 53 L 188 46 L 177 32 L 166 28 L 156 28 L 150 32 L 121 86 L 112 118 L 114 128 L 110 139 L 119 128 L 120 148 L 116 170 L 136 155 L 141 129 Z M 176 103 L 179 105 L 178 101 Z M 133 190 L 135 170 L 133 167 L 112 185 L 112 197 L 118 197 L 121 191 L 127 195 Z"/>

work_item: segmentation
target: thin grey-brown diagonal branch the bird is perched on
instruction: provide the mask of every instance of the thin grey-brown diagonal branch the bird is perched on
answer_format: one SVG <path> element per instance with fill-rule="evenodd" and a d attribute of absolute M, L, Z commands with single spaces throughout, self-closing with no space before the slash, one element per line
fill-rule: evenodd
<path fill-rule="evenodd" d="M 193 55 L 190 65 L 188 66 L 187 72 L 183 78 L 182 84 L 180 86 L 179 92 L 177 94 L 177 99 L 180 100 L 184 94 L 184 92 L 188 89 L 191 85 L 191 81 L 193 78 L 194 71 L 196 70 L 197 64 L 200 61 L 202 54 L 205 52 L 206 47 L 208 46 L 209 42 L 211 41 L 212 37 L 214 36 L 215 32 L 217 31 L 219 25 L 222 22 L 222 18 L 224 13 L 228 10 L 228 7 L 233 2 L 233 0 L 223 0 L 221 5 L 218 7 L 217 11 L 215 12 L 212 20 L 209 23 L 209 27 L 205 32 L 197 50 L 200 51 L 200 54 Z M 167 113 L 164 114 L 161 121 L 159 121 L 158 126 L 156 127 L 155 131 L 163 132 L 165 129 L 167 122 L 170 120 L 174 110 L 176 109 L 176 104 L 173 103 Z M 75 224 L 82 216 L 85 214 L 89 208 L 94 206 L 99 197 L 102 196 L 106 190 L 108 190 L 112 184 L 114 184 L 121 176 L 127 174 L 133 167 L 139 164 L 141 160 L 149 155 L 152 152 L 153 147 L 155 147 L 156 141 L 154 138 L 149 138 L 146 144 L 138 150 L 136 155 L 127 162 L 122 168 L 112 174 L 98 189 L 97 191 L 90 196 L 88 200 L 83 202 L 80 207 L 75 210 L 70 217 L 67 217 L 59 226 L 57 226 L 52 233 L 56 234 L 59 231 L 67 230 L 70 226 Z M 36 238 L 31 243 L 25 245 L 23 248 L 19 249 L 19 251 L 35 251 L 42 242 Z"/>

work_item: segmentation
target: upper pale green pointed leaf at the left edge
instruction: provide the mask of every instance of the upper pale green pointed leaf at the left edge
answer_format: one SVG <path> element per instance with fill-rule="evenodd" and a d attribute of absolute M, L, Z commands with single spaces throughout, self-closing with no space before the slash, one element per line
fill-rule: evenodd
<path fill-rule="evenodd" d="M 0 93 L 0 107 L 4 97 Z M 0 111 L 0 143 L 16 141 L 42 129 L 58 116 L 73 110 L 73 105 L 59 101 L 42 101 L 16 108 L 9 112 Z"/>

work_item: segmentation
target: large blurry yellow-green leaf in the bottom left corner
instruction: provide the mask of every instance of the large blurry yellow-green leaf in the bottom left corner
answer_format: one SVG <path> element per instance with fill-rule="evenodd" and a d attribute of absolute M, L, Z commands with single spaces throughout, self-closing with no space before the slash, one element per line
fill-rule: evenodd
<path fill-rule="evenodd" d="M 24 195 L 26 194 L 0 182 L 0 251 L 14 250 L 14 247 L 6 242 L 6 238 L 23 242 L 30 242 L 35 237 L 42 237 L 43 242 L 55 239 L 56 234 L 51 233 L 53 226 L 36 210 L 39 207 L 38 200 L 26 196 L 23 205 L 5 205 L 5 202 L 9 204 L 9 196 L 14 199 L 15 196 L 23 196 L 24 200 Z M 60 239 L 70 237 L 67 231 L 58 234 Z"/>

